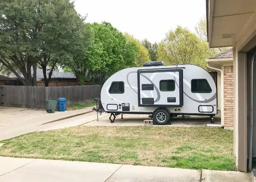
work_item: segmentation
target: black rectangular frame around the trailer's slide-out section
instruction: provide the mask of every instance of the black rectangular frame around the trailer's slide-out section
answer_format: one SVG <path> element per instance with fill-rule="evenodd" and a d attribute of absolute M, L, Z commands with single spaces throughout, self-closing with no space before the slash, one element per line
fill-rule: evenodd
<path fill-rule="evenodd" d="M 182 67 L 183 68 L 183 67 Z M 185 67 L 184 67 L 185 68 Z M 178 105 L 162 105 L 162 104 L 140 104 L 140 74 L 141 73 L 155 73 L 155 72 L 179 72 L 179 92 L 180 104 Z M 138 80 L 138 107 L 157 106 L 157 107 L 182 107 L 183 106 L 183 70 L 181 68 L 153 68 L 143 69 L 137 71 Z"/>

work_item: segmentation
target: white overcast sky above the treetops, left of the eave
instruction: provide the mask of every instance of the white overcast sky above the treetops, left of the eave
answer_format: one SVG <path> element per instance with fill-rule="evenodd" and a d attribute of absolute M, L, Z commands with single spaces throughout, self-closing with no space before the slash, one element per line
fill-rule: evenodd
<path fill-rule="evenodd" d="M 195 32 L 206 14 L 205 0 L 75 0 L 75 9 L 86 22 L 110 22 L 136 39 L 160 42 L 177 25 Z"/>

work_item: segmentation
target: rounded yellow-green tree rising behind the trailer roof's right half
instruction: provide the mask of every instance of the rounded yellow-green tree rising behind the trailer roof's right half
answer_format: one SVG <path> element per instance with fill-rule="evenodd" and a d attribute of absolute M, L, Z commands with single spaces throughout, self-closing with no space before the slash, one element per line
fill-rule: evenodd
<path fill-rule="evenodd" d="M 158 59 L 166 64 L 200 64 L 205 67 L 203 57 L 199 38 L 180 26 L 167 33 L 158 46 Z"/>

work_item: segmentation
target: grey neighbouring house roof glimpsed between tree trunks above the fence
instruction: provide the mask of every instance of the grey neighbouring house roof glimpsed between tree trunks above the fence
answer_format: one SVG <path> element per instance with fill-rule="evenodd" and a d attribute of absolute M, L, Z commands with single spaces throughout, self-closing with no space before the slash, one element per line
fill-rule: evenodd
<path fill-rule="evenodd" d="M 48 78 L 50 70 L 46 70 L 46 77 Z M 21 78 L 24 78 L 24 76 L 19 73 Z M 33 77 L 33 68 L 31 68 L 31 76 Z M 14 73 L 11 73 L 9 75 L 10 78 L 17 78 Z M 59 72 L 59 71 L 53 71 L 52 72 L 52 78 L 76 78 L 74 73 L 71 72 Z M 39 67 L 37 67 L 37 80 L 44 79 L 43 70 Z"/>

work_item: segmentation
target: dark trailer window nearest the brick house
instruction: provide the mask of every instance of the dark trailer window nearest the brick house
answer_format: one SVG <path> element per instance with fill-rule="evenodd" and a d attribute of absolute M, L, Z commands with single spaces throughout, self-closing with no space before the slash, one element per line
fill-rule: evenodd
<path fill-rule="evenodd" d="M 210 93 L 211 87 L 206 79 L 191 80 L 191 92 L 194 93 Z"/>

